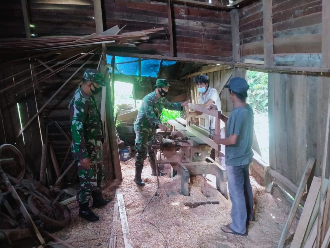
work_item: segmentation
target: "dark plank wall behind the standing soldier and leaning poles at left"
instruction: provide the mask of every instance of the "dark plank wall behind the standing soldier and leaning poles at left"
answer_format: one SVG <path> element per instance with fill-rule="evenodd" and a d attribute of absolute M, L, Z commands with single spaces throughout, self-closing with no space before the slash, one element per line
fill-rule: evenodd
<path fill-rule="evenodd" d="M 57 61 L 50 62 L 48 63 L 48 65 L 52 66 L 55 62 Z M 37 94 L 37 103 L 39 107 L 49 100 L 49 98 L 55 93 L 55 91 L 57 91 L 57 89 L 60 86 L 62 86 L 62 84 L 72 75 L 73 72 L 75 72 L 82 65 L 83 62 L 84 61 L 78 61 L 74 65 L 67 67 L 61 72 L 55 74 L 54 76 L 45 79 L 40 84 L 35 85 L 35 91 Z M 77 89 L 78 84 L 82 80 L 83 71 L 86 68 L 96 68 L 98 62 L 99 62 L 99 58 L 97 56 L 95 56 L 92 61 L 88 62 L 72 78 L 72 80 L 68 82 L 68 84 L 62 89 L 62 91 L 60 91 L 56 95 L 56 97 L 49 102 L 47 107 L 44 109 L 43 114 L 41 114 L 41 117 L 43 118 L 41 120 L 41 124 L 44 125 L 45 127 L 47 126 L 49 129 L 48 141 L 51 142 L 54 146 L 54 151 L 58 164 L 60 166 L 63 164 L 62 172 L 70 165 L 70 163 L 73 160 L 70 151 L 64 163 L 64 159 L 69 149 L 70 142 L 55 126 L 55 124 L 51 121 L 49 116 L 60 125 L 60 127 L 71 139 L 72 136 L 71 136 L 68 104 L 75 90 Z M 31 66 L 36 66 L 38 64 L 39 62 L 35 60 L 31 62 Z M 57 65 L 54 68 L 58 68 L 59 66 L 62 65 L 63 64 Z M 7 70 L 1 71 L 0 80 L 10 75 L 14 75 L 26 68 L 29 68 L 29 66 L 30 66 L 29 63 L 20 63 L 15 66 L 9 66 Z M 34 69 L 34 71 L 35 73 L 40 73 L 44 69 L 45 69 L 44 67 L 38 66 Z M 41 72 L 40 74 L 34 77 L 34 80 L 41 78 L 48 73 L 49 73 L 48 70 Z M 17 82 L 30 75 L 31 75 L 31 71 L 27 71 L 26 73 L 22 73 L 19 74 L 18 76 L 15 76 L 14 80 Z M 13 80 L 9 79 L 2 82 L 2 85 L 8 86 L 12 83 Z M 0 101 L 0 108 L 4 120 L 7 143 L 16 145 L 16 147 L 23 153 L 26 163 L 29 164 L 30 168 L 34 172 L 34 175 L 38 179 L 39 171 L 40 171 L 40 163 L 41 163 L 41 150 L 42 150 L 42 142 L 41 142 L 38 119 L 35 119 L 35 121 L 31 124 L 31 126 L 28 127 L 26 131 L 24 131 L 23 134 L 24 134 L 25 145 L 23 144 L 22 136 L 20 136 L 18 139 L 16 138 L 16 135 L 21 129 L 19 117 L 18 117 L 17 102 L 19 103 L 20 106 L 20 113 L 22 117 L 23 126 L 29 121 L 29 118 L 31 118 L 37 112 L 33 87 L 26 89 L 26 91 L 19 92 L 21 91 L 24 85 L 28 85 L 30 83 L 32 83 L 31 80 L 26 80 L 24 83 L 17 85 L 17 87 L 13 87 L 5 91 L 4 93 L 0 94 L 0 97 L 2 99 Z M 39 89 L 40 89 L 40 96 L 38 95 Z M 6 99 L 10 95 L 13 96 Z M 97 103 L 100 105 L 101 94 L 99 94 L 96 97 L 96 100 Z M 2 132 L 0 132 L 0 134 L 2 134 Z M 45 128 L 43 128 L 42 134 L 43 136 L 45 136 Z M 3 138 L 1 138 L 0 140 L 3 140 Z M 43 137 L 43 141 L 45 142 L 45 137 Z M 108 160 L 106 144 L 107 143 L 105 141 L 103 146 L 104 166 L 106 167 L 106 175 L 108 176 L 108 178 L 113 178 L 114 170 L 113 170 L 113 164 L 111 162 L 111 154 Z M 108 161 L 110 161 L 110 163 L 108 163 Z M 53 170 L 53 165 L 51 161 L 48 161 L 48 166 L 51 172 Z M 65 178 L 67 182 L 74 182 L 77 179 L 76 165 L 72 167 L 72 169 L 68 172 Z"/>

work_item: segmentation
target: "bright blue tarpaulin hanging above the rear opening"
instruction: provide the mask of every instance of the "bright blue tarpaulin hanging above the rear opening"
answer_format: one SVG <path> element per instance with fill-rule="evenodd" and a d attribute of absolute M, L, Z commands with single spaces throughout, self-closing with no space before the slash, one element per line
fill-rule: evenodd
<path fill-rule="evenodd" d="M 107 55 L 107 62 L 111 64 L 112 56 Z M 123 63 L 130 62 L 130 63 Z M 159 71 L 160 60 L 141 59 L 141 76 L 157 77 Z M 175 61 L 163 61 L 162 66 L 175 64 Z M 111 66 L 109 66 L 111 72 Z M 139 75 L 139 62 L 137 58 L 115 57 L 115 74 L 123 74 L 128 76 Z"/>

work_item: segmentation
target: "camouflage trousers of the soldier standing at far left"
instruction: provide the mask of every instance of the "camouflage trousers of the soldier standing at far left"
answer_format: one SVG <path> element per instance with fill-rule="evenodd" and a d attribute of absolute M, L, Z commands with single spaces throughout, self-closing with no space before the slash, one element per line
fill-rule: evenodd
<path fill-rule="evenodd" d="M 84 169 L 78 161 L 78 177 L 80 185 L 77 194 L 79 203 L 87 203 L 91 199 L 92 191 L 101 191 L 105 168 L 102 162 L 102 142 L 90 140 L 86 144 L 90 159 L 90 168 Z"/>

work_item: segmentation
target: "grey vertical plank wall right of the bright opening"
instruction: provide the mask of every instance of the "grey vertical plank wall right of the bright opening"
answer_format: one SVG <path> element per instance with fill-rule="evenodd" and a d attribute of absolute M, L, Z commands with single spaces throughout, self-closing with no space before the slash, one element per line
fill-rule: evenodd
<path fill-rule="evenodd" d="M 268 82 L 270 166 L 298 185 L 310 156 L 321 175 L 330 77 L 269 73 Z"/>

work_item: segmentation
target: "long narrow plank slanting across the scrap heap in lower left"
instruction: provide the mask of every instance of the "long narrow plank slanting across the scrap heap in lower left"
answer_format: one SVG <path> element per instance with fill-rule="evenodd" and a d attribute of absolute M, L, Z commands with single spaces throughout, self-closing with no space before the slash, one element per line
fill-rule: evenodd
<path fill-rule="evenodd" d="M 31 216 L 29 215 L 29 213 L 27 212 L 22 200 L 20 199 L 19 195 L 17 194 L 14 186 L 12 186 L 12 184 L 9 182 L 7 176 L 4 173 L 1 173 L 1 176 L 3 178 L 3 180 L 5 181 L 6 186 L 8 187 L 8 190 L 12 193 L 12 196 L 14 197 L 14 199 L 18 202 L 19 205 L 19 209 L 22 212 L 24 219 L 26 220 L 26 222 L 28 223 L 29 227 L 31 230 L 33 230 L 36 234 L 36 236 L 38 237 L 39 241 L 41 244 L 45 243 L 45 240 L 43 239 L 43 237 L 41 236 L 38 228 L 36 227 L 36 225 L 34 224 Z"/>

